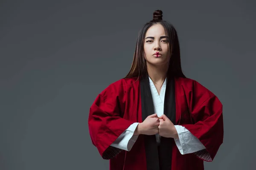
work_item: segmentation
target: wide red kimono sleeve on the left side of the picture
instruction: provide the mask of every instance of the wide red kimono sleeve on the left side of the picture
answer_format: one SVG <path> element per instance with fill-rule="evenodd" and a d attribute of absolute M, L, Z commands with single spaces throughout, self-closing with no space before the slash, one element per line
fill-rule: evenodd
<path fill-rule="evenodd" d="M 90 107 L 89 134 L 103 159 L 112 159 L 122 151 L 111 144 L 134 123 L 122 118 L 124 110 L 125 90 L 120 81 L 102 91 Z"/>

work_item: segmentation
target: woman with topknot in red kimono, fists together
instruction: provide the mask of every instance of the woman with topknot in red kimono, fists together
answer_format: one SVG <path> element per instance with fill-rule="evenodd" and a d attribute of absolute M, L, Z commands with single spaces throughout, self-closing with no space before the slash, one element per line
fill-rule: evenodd
<path fill-rule="evenodd" d="M 90 108 L 89 132 L 111 170 L 204 170 L 223 142 L 222 104 L 186 78 L 175 28 L 154 11 L 128 75 Z"/>

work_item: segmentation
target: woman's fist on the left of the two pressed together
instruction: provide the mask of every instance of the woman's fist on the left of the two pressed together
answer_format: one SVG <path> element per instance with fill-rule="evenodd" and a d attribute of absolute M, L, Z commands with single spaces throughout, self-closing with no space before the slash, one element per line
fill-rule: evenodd
<path fill-rule="evenodd" d="M 155 135 L 158 133 L 159 118 L 157 114 L 149 115 L 142 123 L 137 126 L 134 135 Z"/>

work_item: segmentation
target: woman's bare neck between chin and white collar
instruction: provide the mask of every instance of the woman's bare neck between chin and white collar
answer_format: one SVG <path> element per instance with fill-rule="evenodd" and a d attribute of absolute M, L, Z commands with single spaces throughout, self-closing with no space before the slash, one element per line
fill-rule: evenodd
<path fill-rule="evenodd" d="M 168 65 L 151 65 L 147 63 L 148 76 L 153 82 L 163 82 L 166 79 Z"/>

